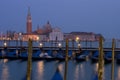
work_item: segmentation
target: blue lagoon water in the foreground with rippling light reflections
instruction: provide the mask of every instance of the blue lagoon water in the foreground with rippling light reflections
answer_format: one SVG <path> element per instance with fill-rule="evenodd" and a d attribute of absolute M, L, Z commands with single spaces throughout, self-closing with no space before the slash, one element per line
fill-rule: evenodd
<path fill-rule="evenodd" d="M 65 62 L 59 61 L 33 61 L 32 80 L 51 80 L 56 68 L 59 67 L 64 77 Z M 67 80 L 93 80 L 98 63 L 91 60 L 68 62 Z M 27 72 L 27 61 L 0 59 L 0 80 L 25 80 Z M 104 65 L 104 80 L 111 78 L 111 63 Z M 120 80 L 120 65 L 115 63 L 115 80 Z"/>

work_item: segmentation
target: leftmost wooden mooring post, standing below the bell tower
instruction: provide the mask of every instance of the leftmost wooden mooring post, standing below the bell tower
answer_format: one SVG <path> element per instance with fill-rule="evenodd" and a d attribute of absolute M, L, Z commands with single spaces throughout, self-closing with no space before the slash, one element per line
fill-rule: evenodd
<path fill-rule="evenodd" d="M 31 80 L 32 72 L 32 40 L 28 41 L 28 62 L 27 62 L 27 80 Z"/>

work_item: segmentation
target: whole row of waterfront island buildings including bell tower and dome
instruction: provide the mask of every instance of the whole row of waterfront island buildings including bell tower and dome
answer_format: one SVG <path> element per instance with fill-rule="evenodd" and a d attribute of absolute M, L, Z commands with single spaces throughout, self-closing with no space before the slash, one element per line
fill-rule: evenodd
<path fill-rule="evenodd" d="M 62 41 L 65 39 L 69 40 L 79 40 L 79 41 L 95 41 L 99 40 L 101 34 L 95 34 L 93 32 L 71 32 L 71 33 L 62 33 L 59 28 L 52 28 L 49 21 L 43 26 L 37 26 L 35 31 L 32 31 L 32 17 L 30 13 L 30 8 L 28 8 L 27 21 L 26 21 L 26 33 L 19 34 L 8 33 L 10 39 L 21 39 L 28 41 L 32 39 L 34 41 Z"/>

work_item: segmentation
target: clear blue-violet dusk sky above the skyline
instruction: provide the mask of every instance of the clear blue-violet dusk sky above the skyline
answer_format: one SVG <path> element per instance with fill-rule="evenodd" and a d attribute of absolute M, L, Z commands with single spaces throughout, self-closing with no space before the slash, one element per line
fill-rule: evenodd
<path fill-rule="evenodd" d="M 120 0 L 0 0 L 0 32 L 25 32 L 28 6 L 33 30 L 49 20 L 62 32 L 94 32 L 120 38 Z"/>

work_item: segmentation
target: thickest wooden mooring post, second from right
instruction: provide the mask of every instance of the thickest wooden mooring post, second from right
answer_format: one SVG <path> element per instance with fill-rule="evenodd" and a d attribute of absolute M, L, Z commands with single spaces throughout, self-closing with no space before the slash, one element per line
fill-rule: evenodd
<path fill-rule="evenodd" d="M 103 67 L 104 67 L 104 58 L 103 58 L 103 38 L 99 39 L 99 60 L 98 60 L 98 80 L 103 80 Z"/>

